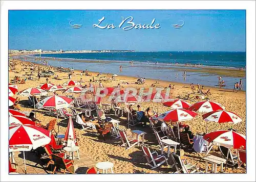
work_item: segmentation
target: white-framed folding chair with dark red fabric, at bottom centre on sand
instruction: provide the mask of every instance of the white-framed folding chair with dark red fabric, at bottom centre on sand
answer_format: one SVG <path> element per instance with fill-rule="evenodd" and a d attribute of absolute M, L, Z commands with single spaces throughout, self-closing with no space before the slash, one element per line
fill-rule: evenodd
<path fill-rule="evenodd" d="M 164 155 L 158 155 L 158 153 L 156 151 L 151 152 L 150 148 L 146 147 L 145 145 L 141 144 L 141 148 L 142 151 L 144 152 L 144 155 L 146 157 L 147 160 L 147 165 L 149 165 L 150 167 L 152 167 L 151 169 L 155 169 L 159 166 L 161 166 L 162 164 L 164 164 L 166 162 L 167 166 L 168 162 L 166 159 L 166 157 Z"/>

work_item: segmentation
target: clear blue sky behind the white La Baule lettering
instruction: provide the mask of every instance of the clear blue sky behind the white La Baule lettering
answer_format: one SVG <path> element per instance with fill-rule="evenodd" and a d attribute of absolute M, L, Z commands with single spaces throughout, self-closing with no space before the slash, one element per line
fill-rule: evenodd
<path fill-rule="evenodd" d="M 9 10 L 9 49 L 245 51 L 245 10 Z M 159 29 L 121 28 L 122 17 Z M 114 24 L 115 29 L 93 28 Z M 71 24 L 81 24 L 74 29 Z M 180 29 L 173 24 L 184 25 Z"/>

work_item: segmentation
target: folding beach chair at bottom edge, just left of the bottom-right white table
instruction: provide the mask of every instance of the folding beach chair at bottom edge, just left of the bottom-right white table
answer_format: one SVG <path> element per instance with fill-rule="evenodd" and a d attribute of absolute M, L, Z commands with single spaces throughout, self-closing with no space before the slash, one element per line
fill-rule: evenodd
<path fill-rule="evenodd" d="M 196 165 L 190 164 L 187 160 L 182 160 L 179 155 L 171 154 L 172 160 L 174 162 L 174 166 L 176 168 L 175 173 L 195 173 L 198 171 L 198 167 Z M 203 172 L 199 172 L 203 173 Z"/>

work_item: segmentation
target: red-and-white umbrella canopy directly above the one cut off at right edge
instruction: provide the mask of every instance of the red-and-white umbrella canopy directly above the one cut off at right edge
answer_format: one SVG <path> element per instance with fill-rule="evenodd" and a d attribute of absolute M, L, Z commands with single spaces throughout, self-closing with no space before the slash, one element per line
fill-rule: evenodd
<path fill-rule="evenodd" d="M 202 115 L 202 117 L 205 121 L 214 121 L 218 123 L 228 122 L 237 124 L 242 121 L 241 117 L 236 113 L 225 110 L 212 111 Z"/>

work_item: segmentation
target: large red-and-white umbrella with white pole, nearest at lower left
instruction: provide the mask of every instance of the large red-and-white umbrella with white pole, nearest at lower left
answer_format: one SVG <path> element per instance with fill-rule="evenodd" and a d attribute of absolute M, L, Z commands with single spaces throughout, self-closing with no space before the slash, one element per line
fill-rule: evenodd
<path fill-rule="evenodd" d="M 9 127 L 9 152 L 23 151 L 25 173 L 25 151 L 47 145 L 51 141 L 51 132 L 39 126 L 30 124 Z"/>

